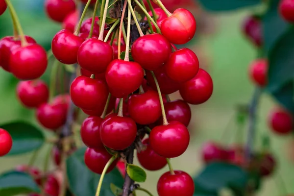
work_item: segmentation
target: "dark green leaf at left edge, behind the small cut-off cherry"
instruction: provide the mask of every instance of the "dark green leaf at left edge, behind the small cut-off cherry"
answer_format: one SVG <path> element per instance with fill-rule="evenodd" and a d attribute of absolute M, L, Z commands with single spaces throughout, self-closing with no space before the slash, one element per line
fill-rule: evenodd
<path fill-rule="evenodd" d="M 0 125 L 9 132 L 12 137 L 12 148 L 8 155 L 23 154 L 42 147 L 45 137 L 40 129 L 25 123 L 12 122 Z"/>

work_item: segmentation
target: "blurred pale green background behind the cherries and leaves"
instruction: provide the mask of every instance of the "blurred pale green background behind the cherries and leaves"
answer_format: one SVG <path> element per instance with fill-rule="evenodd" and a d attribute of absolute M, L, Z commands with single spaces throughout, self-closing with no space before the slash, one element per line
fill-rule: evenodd
<path fill-rule="evenodd" d="M 15 5 L 25 34 L 32 36 L 46 49 L 50 48 L 51 39 L 61 28 L 46 18 L 43 10 L 43 0 L 11 0 Z M 206 23 L 214 25 L 215 32 L 212 35 L 198 35 L 197 50 L 203 48 L 208 58 L 209 73 L 214 80 L 214 93 L 212 98 L 201 106 L 192 106 L 193 117 L 189 125 L 191 131 L 191 143 L 188 150 L 180 157 L 172 159 L 174 169 L 184 170 L 195 176 L 202 168 L 200 150 L 201 145 L 209 140 L 216 140 L 222 144 L 234 143 L 236 125 L 232 122 L 235 114 L 235 106 L 239 103 L 248 103 L 253 94 L 253 85 L 248 80 L 247 67 L 256 57 L 257 51 L 244 38 L 241 33 L 241 23 L 249 12 L 236 11 L 224 14 L 215 14 L 206 20 Z M 0 37 L 11 35 L 12 25 L 9 13 L 0 17 Z M 194 46 L 189 45 L 194 48 Z M 196 53 L 197 54 L 197 53 Z M 201 60 L 201 59 L 200 59 Z M 201 61 L 200 61 L 201 64 Z M 49 65 L 50 70 L 50 65 Z M 48 70 L 48 72 L 49 72 Z M 48 82 L 48 73 L 44 76 Z M 35 111 L 25 109 L 17 100 L 15 87 L 17 84 L 10 73 L 0 70 L 0 123 L 13 120 L 25 120 L 36 124 Z M 178 98 L 178 94 L 172 95 L 172 99 Z M 261 134 L 268 133 L 271 138 L 271 147 L 278 160 L 278 168 L 273 176 L 264 180 L 264 184 L 257 196 L 282 196 L 286 194 L 281 186 L 285 183 L 288 194 L 294 193 L 293 163 L 286 157 L 286 144 L 289 137 L 279 137 L 271 134 L 267 126 L 267 118 L 270 109 L 275 102 L 267 95 L 261 98 L 258 110 L 258 135 L 255 147 L 258 149 L 261 143 Z M 231 123 L 229 123 L 231 122 Z M 229 123 L 229 124 L 228 124 Z M 225 132 L 225 141 L 221 141 L 221 135 Z M 44 147 L 36 166 L 42 168 L 43 158 L 47 146 Z M 294 149 L 294 148 L 293 148 Z M 19 157 L 0 158 L 0 172 L 13 169 L 16 165 L 26 164 L 31 154 Z M 164 168 L 159 172 L 147 172 L 147 181 L 142 187 L 156 195 L 156 182 L 159 176 L 168 171 Z M 144 196 L 138 193 L 139 196 Z"/>

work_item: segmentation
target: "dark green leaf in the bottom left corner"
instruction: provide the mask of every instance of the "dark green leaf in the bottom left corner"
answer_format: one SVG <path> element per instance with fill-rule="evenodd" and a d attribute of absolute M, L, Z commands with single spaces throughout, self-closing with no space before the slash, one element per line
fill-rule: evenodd
<path fill-rule="evenodd" d="M 40 193 L 33 178 L 24 172 L 6 172 L 0 175 L 0 196 Z"/>

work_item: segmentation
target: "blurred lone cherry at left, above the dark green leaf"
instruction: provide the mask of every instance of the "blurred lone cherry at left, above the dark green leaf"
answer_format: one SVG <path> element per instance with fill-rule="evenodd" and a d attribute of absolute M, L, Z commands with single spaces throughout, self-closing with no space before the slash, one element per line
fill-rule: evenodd
<path fill-rule="evenodd" d="M 20 81 L 16 89 L 17 97 L 26 107 L 38 107 L 49 98 L 47 84 L 42 80 Z"/>

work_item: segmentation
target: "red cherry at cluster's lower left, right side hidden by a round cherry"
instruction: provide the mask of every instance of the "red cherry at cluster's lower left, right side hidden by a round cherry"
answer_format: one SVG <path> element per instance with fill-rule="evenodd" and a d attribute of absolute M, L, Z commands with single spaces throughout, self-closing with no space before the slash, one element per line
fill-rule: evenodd
<path fill-rule="evenodd" d="M 100 139 L 100 125 L 103 119 L 96 116 L 90 116 L 84 120 L 81 126 L 81 138 L 83 143 L 87 147 L 91 148 L 103 148 L 103 144 Z"/>

